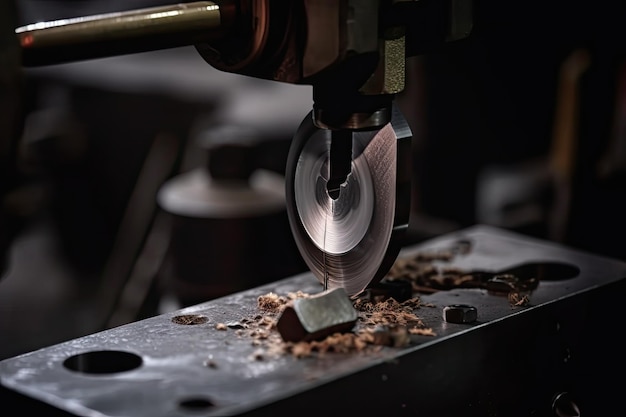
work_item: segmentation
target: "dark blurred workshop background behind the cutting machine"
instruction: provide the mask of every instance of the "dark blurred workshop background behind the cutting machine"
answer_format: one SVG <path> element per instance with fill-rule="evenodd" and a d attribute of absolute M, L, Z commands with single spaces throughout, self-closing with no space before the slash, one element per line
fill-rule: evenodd
<path fill-rule="evenodd" d="M 305 271 L 281 175 L 309 86 L 193 47 L 16 60 L 15 27 L 159 4 L 0 6 L 0 359 Z M 407 245 L 483 223 L 626 260 L 625 18 L 616 0 L 477 0 L 468 39 L 408 60 Z M 212 176 L 271 201 L 233 215 Z"/>

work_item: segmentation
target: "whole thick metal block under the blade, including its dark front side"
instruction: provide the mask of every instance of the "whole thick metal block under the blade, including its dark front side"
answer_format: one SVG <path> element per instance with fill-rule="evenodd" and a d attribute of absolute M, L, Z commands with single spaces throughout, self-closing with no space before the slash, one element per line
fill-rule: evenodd
<path fill-rule="evenodd" d="M 481 288 L 415 294 L 414 314 L 432 333 L 409 334 L 408 345 L 272 355 L 267 339 L 246 326 L 268 314 L 258 305 L 262 295 L 320 293 L 303 273 L 5 359 L 0 399 L 23 413 L 101 417 L 275 416 L 303 406 L 325 414 L 477 417 L 621 409 L 622 386 L 610 375 L 626 362 L 607 317 L 619 317 L 626 264 L 488 226 L 404 248 L 400 258 L 461 240 L 472 242 L 471 251 L 446 266 L 501 271 L 558 262 L 579 273 L 542 275 L 520 307 Z M 447 323 L 441 309 L 451 304 L 475 306 L 480 316 Z"/>

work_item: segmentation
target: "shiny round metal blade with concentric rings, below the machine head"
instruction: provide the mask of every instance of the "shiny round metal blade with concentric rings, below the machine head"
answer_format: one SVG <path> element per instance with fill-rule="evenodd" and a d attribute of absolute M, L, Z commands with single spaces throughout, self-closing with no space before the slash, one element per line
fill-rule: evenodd
<path fill-rule="evenodd" d="M 410 158 L 410 130 L 402 127 L 392 122 L 352 134 L 351 173 L 336 199 L 326 186 L 332 132 L 315 127 L 309 115 L 293 139 L 289 222 L 304 261 L 328 289 L 355 297 L 380 281 L 398 255 L 410 204 L 410 161 L 398 163 L 399 156 Z"/>

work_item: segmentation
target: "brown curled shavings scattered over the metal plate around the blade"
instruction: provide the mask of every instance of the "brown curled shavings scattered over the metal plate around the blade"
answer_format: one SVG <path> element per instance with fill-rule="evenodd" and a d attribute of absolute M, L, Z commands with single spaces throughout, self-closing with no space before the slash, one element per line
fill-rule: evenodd
<path fill-rule="evenodd" d="M 408 280 L 414 293 L 481 288 L 484 283 L 475 274 L 450 265 L 456 256 L 468 254 L 471 248 L 471 242 L 460 240 L 448 248 L 399 258 L 385 279 Z M 358 298 L 354 307 L 359 318 L 352 332 L 336 333 L 320 341 L 284 342 L 276 329 L 276 321 L 289 303 L 309 296 L 303 292 L 285 295 L 270 292 L 261 295 L 258 297 L 260 313 L 255 317 L 242 319 L 236 326 L 237 334 L 249 337 L 254 346 L 264 348 L 265 355 L 291 354 L 298 358 L 327 353 L 378 351 L 384 346 L 408 346 L 411 335 L 436 336 L 415 314 L 417 309 L 425 306 L 418 297 L 402 303 L 393 298 Z M 516 291 L 509 293 L 508 299 L 512 306 L 524 306 L 529 302 L 527 293 Z M 262 359 L 263 353 L 255 351 L 254 360 Z"/>

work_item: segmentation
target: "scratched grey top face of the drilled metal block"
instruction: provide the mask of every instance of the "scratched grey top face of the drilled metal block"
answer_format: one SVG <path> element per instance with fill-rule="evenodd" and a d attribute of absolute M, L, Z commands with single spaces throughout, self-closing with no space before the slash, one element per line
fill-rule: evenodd
<path fill-rule="evenodd" d="M 487 335 L 491 326 L 496 328 L 505 319 L 513 322 L 515 317 L 523 318 L 526 314 L 531 317 L 534 310 L 537 315 L 542 307 L 622 281 L 626 276 L 626 265 L 622 262 L 486 226 L 475 226 L 406 248 L 400 257 L 425 249 L 447 248 L 458 239 L 473 243 L 467 255 L 453 261 L 453 265 L 463 269 L 499 271 L 525 262 L 558 261 L 578 267 L 580 273 L 567 280 L 542 281 L 532 293 L 531 303 L 523 308 L 512 308 L 505 297 L 480 289 L 421 296 L 434 306 L 421 307 L 416 314 L 436 336 L 412 336 L 406 348 L 384 348 L 377 353 L 327 354 L 306 359 L 281 355 L 271 360 L 257 360 L 253 357 L 257 347 L 249 338 L 237 336 L 232 329 L 215 328 L 216 323 L 238 322 L 243 317 L 258 314 L 257 297 L 270 291 L 277 294 L 320 291 L 317 279 L 305 273 L 3 360 L 0 381 L 9 391 L 81 416 L 254 414 L 255 410 L 271 411 L 273 404 L 284 401 L 288 404 L 289 399 L 300 397 L 308 402 L 303 406 L 320 409 L 321 406 L 304 393 L 324 393 L 328 386 L 338 398 L 344 387 L 345 395 L 353 395 L 354 390 L 347 386 L 353 384 L 355 375 L 361 375 L 363 381 L 382 378 L 390 384 L 387 378 L 394 375 L 389 369 L 390 363 L 417 367 L 414 373 L 423 370 L 426 374 L 429 363 L 422 364 L 421 358 L 429 360 L 436 350 L 445 352 L 446 346 L 452 346 L 452 342 L 457 338 L 461 340 L 464 334 L 471 336 L 482 331 Z M 442 308 L 456 303 L 475 306 L 478 320 L 463 325 L 444 322 Z M 180 314 L 198 314 L 208 321 L 197 325 L 173 323 L 172 317 Z M 132 353 L 140 358 L 140 366 L 95 375 L 74 372 L 64 366 L 64 361 L 74 355 L 102 351 Z M 207 366 L 208 360 L 216 366 Z M 377 389 L 386 392 L 385 388 Z M 187 400 L 189 402 L 185 403 Z M 346 401 L 354 402 L 353 398 Z"/>

